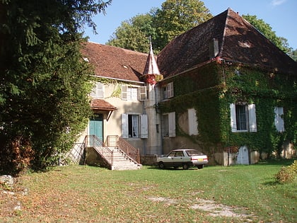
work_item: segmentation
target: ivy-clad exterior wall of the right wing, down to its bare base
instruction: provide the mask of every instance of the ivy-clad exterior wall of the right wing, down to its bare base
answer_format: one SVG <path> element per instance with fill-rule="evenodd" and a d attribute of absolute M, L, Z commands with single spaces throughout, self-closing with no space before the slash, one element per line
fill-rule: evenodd
<path fill-rule="evenodd" d="M 163 137 L 163 154 L 178 147 L 199 147 L 222 165 L 240 163 L 237 155 L 233 161 L 234 157 L 229 154 L 228 160 L 222 151 L 226 147 L 238 150 L 245 144 L 252 151 L 248 154 L 249 164 L 257 163 L 263 151 L 271 154 L 279 150 L 279 155 L 286 158 L 296 154 L 293 144 L 289 146 L 290 140 L 296 138 L 293 129 L 296 104 L 292 103 L 296 98 L 293 95 L 295 76 L 272 74 L 244 64 L 212 63 L 165 81 L 174 83 L 174 97 L 161 101 L 159 108 L 163 114 L 175 112 L 176 136 Z M 246 105 L 246 130 L 232 131 L 232 103 Z M 281 117 L 286 134 L 276 127 L 276 107 L 284 108 Z M 189 134 L 190 121 L 186 113 L 190 108 L 197 110 L 199 135 Z M 284 146 L 281 149 L 276 144 Z"/>

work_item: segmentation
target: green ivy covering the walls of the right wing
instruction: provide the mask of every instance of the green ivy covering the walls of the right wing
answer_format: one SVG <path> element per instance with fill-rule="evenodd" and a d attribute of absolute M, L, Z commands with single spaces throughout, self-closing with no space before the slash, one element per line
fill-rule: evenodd
<path fill-rule="evenodd" d="M 247 145 L 252 150 L 280 151 L 285 141 L 296 143 L 296 75 L 277 74 L 259 67 L 211 62 L 190 72 L 163 81 L 173 81 L 174 97 L 159 103 L 162 113 L 178 115 L 188 108 L 197 111 L 199 141 L 204 151 L 209 144 L 216 151 L 237 151 Z M 253 103 L 256 107 L 257 132 L 231 132 L 230 104 Z M 276 132 L 274 107 L 284 107 L 285 132 Z M 185 136 L 178 131 L 177 136 Z M 195 137 L 197 138 L 197 137 Z M 207 146 L 206 146 L 207 145 Z"/>

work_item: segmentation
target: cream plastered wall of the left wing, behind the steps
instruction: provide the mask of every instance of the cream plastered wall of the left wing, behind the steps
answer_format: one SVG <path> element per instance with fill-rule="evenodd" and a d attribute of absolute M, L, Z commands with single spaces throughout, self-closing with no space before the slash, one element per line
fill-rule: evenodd
<path fill-rule="evenodd" d="M 128 84 L 128 86 L 139 87 L 140 84 Z M 105 101 L 117 107 L 117 110 L 112 111 L 110 118 L 107 120 L 108 112 L 94 111 L 94 113 L 103 114 L 103 141 L 107 142 L 108 135 L 118 135 L 122 137 L 122 114 L 129 115 L 148 115 L 148 138 L 141 139 L 139 134 L 138 138 L 124 138 L 133 147 L 140 150 L 141 154 L 160 154 L 161 151 L 161 119 L 156 111 L 156 98 L 158 97 L 158 88 L 155 85 L 147 86 L 147 100 L 146 101 L 127 101 L 122 100 L 121 97 L 121 84 L 105 84 L 104 98 Z M 139 131 L 141 123 L 139 120 Z M 89 127 L 86 127 L 78 138 L 78 143 L 83 142 L 86 135 L 89 135 Z"/>

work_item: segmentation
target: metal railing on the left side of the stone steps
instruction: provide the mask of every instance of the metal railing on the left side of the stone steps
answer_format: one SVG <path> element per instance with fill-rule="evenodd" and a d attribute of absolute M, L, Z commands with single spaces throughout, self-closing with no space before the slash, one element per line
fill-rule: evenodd
<path fill-rule="evenodd" d="M 113 151 L 105 146 L 104 142 L 95 135 L 87 135 L 84 139 L 85 147 L 93 147 L 108 164 L 113 164 Z"/>

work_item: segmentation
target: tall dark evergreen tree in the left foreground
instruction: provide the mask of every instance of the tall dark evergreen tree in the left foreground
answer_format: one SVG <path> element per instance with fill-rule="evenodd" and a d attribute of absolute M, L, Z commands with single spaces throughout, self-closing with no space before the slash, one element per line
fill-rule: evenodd
<path fill-rule="evenodd" d="M 0 1 L 0 172 L 46 168 L 91 113 L 80 33 L 111 1 Z"/>

